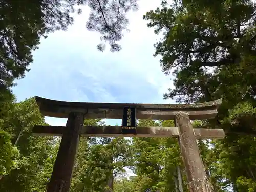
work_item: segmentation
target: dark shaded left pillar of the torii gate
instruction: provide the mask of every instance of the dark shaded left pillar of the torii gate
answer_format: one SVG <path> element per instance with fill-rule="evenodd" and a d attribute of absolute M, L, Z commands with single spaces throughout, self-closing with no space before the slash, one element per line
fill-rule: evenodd
<path fill-rule="evenodd" d="M 47 192 L 68 192 L 72 178 L 83 113 L 71 112 L 63 133 Z"/>

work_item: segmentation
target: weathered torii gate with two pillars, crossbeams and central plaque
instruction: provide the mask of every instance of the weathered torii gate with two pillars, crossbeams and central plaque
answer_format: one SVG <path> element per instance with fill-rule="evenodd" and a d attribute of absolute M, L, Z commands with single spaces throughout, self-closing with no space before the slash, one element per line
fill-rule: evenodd
<path fill-rule="evenodd" d="M 68 118 L 65 126 L 34 126 L 33 134 L 62 136 L 47 192 L 67 192 L 80 136 L 176 137 L 191 192 L 211 192 L 196 139 L 222 139 L 222 129 L 193 129 L 190 120 L 214 118 L 221 99 L 197 104 L 65 102 L 35 97 L 42 115 Z M 122 119 L 122 126 L 83 126 L 87 119 Z M 175 120 L 177 127 L 136 127 L 138 119 Z"/>

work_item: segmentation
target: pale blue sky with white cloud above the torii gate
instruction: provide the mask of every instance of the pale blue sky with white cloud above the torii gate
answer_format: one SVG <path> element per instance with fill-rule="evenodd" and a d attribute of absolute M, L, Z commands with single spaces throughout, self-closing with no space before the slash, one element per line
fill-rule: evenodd
<path fill-rule="evenodd" d="M 35 95 L 49 99 L 78 102 L 174 103 L 163 100 L 172 87 L 171 76 L 161 71 L 154 58 L 153 44 L 161 37 L 146 26 L 142 15 L 160 6 L 140 0 L 139 11 L 130 12 L 130 32 L 125 32 L 122 50 L 103 53 L 96 48 L 100 34 L 86 30 L 90 10 L 75 16 L 67 31 L 57 31 L 41 39 L 33 52 L 34 62 L 24 79 L 13 88 L 18 101 Z M 67 119 L 46 118 L 50 125 L 65 126 Z M 110 125 L 121 120 L 105 120 Z"/>

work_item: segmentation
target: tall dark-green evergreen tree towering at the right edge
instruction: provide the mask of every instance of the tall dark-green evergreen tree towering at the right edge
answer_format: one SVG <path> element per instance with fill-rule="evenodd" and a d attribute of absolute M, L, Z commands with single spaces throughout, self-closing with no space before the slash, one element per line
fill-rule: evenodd
<path fill-rule="evenodd" d="M 254 1 L 175 1 L 144 18 L 163 39 L 155 44 L 165 74 L 173 72 L 174 88 L 164 98 L 204 102 L 222 98 L 211 127 L 227 137 L 212 142 L 208 155 L 216 191 L 255 191 L 255 66 L 256 6 Z M 241 135 L 241 134 L 245 135 Z M 249 134 L 249 135 L 248 135 Z"/>

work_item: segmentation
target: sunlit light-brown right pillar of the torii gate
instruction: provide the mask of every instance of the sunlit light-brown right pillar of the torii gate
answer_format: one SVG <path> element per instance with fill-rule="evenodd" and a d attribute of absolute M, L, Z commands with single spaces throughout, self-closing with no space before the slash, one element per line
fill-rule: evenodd
<path fill-rule="evenodd" d="M 213 192 L 206 176 L 189 116 L 184 112 L 178 113 L 176 124 L 179 129 L 179 144 L 190 192 Z"/>

